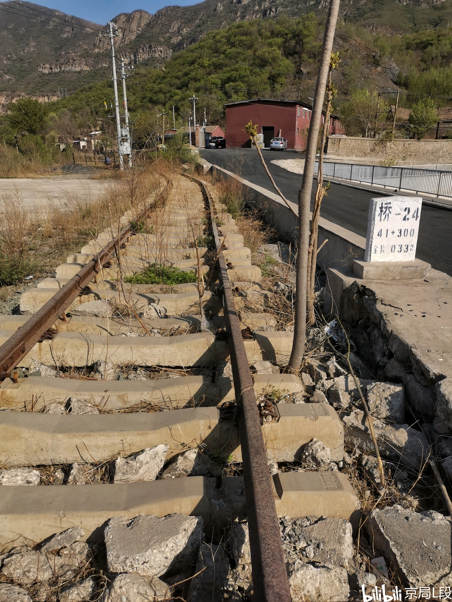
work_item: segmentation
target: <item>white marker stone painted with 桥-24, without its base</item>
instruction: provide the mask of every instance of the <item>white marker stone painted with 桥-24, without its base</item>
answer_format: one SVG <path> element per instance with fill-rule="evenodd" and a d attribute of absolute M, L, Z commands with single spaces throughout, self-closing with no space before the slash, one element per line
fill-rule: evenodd
<path fill-rule="evenodd" d="M 421 206 L 419 196 L 371 199 L 364 261 L 414 261 Z"/>

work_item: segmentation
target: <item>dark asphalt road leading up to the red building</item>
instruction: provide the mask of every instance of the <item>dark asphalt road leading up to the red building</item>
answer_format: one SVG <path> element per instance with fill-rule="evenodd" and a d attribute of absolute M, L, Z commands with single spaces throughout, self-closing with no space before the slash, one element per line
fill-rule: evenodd
<path fill-rule="evenodd" d="M 294 151 L 284 153 L 263 151 L 262 154 L 281 192 L 287 199 L 297 203 L 302 176 L 278 167 L 270 161 L 275 158 L 303 158 L 303 155 Z M 274 191 L 256 149 L 216 149 L 215 151 L 206 149 L 201 151 L 201 155 L 209 163 L 239 173 L 242 178 L 253 184 Z M 315 197 L 315 185 L 313 183 L 311 209 Z M 321 216 L 366 237 L 369 200 L 375 196 L 379 196 L 378 191 L 370 193 L 340 184 L 331 184 L 328 196 L 322 200 Z M 422 206 L 416 256 L 427 261 L 436 270 L 452 276 L 452 211 L 428 205 Z"/>

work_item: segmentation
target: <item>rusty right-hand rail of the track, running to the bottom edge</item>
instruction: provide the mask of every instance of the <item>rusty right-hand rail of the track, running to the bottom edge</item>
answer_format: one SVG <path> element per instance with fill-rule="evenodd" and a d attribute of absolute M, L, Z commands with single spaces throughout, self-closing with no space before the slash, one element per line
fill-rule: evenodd
<path fill-rule="evenodd" d="M 213 237 L 218 253 L 219 273 L 224 299 L 224 320 L 229 345 L 234 389 L 238 408 L 240 446 L 242 447 L 243 476 L 245 477 L 246 518 L 250 532 L 251 568 L 253 569 L 253 600 L 256 602 L 290 602 L 289 580 L 281 544 L 274 493 L 268 470 L 268 459 L 262 436 L 253 378 L 243 344 L 234 297 L 228 277 L 215 222 L 212 197 L 200 179 L 210 209 Z M 219 252 L 220 251 L 220 252 Z"/>

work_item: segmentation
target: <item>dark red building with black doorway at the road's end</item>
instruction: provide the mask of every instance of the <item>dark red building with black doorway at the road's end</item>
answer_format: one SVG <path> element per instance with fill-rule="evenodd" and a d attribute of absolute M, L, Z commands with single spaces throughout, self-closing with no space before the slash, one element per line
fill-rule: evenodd
<path fill-rule="evenodd" d="M 257 124 L 257 133 L 263 134 L 266 147 L 278 135 L 287 140 L 287 148 L 296 151 L 306 149 L 307 129 L 309 128 L 312 105 L 302 101 L 279 101 L 269 98 L 256 98 L 251 101 L 228 102 L 226 109 L 227 148 L 247 148 L 251 146 L 250 136 L 245 125 L 251 119 Z M 324 122 L 325 114 L 322 116 Z M 330 134 L 344 134 L 344 128 L 336 116 L 330 119 Z"/>

